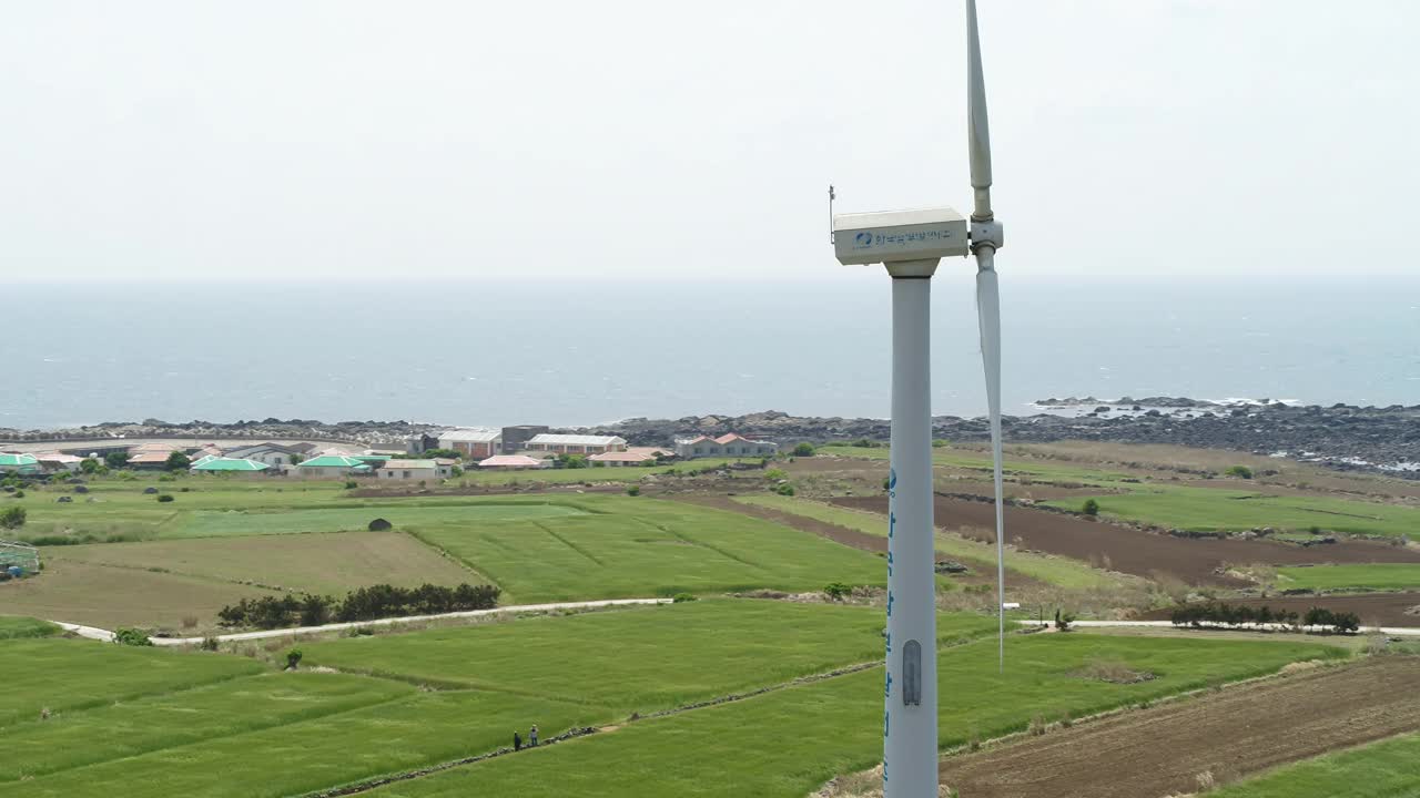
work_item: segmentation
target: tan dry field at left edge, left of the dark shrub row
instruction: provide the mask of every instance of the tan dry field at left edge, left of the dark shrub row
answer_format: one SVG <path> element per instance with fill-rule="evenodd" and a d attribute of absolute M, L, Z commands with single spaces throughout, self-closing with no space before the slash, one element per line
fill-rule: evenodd
<path fill-rule="evenodd" d="M 0 585 L 0 611 L 101 629 L 143 626 L 197 633 L 216 626 L 223 606 L 263 595 L 275 594 L 179 574 L 51 561 L 40 578 Z M 187 628 L 185 619 L 196 619 L 197 625 Z"/>

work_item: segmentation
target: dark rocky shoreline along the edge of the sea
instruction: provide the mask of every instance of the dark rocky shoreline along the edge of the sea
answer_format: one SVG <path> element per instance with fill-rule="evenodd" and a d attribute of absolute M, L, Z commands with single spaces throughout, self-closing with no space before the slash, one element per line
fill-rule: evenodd
<path fill-rule="evenodd" d="M 1003 419 L 1010 443 L 1100 440 L 1115 443 L 1172 443 L 1278 454 L 1345 470 L 1366 470 L 1420 479 L 1420 405 L 1358 408 L 1352 405 L 1294 406 L 1279 402 L 1218 403 L 1186 398 L 1152 396 L 1099 400 L 1042 399 L 1045 412 Z M 321 439 L 364 444 L 402 443 L 432 434 L 437 425 L 412 422 L 338 422 L 266 419 L 230 425 L 213 422 L 166 423 L 112 422 L 65 430 L 0 429 L 0 442 L 89 440 L 121 437 L 253 437 Z M 937 437 L 958 442 L 988 440 L 984 417 L 933 419 Z M 595 427 L 562 427 L 558 432 L 621 434 L 632 444 L 666 444 L 689 434 L 737 432 L 781 443 L 808 440 L 886 440 L 886 419 L 791 416 L 767 410 L 743 416 L 684 416 L 680 419 L 626 419 Z"/>

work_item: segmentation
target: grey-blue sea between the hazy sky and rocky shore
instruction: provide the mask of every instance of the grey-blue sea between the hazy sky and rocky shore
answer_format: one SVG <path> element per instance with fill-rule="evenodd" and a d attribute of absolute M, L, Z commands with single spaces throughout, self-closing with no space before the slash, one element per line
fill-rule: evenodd
<path fill-rule="evenodd" d="M 970 274 L 933 281 L 933 412 L 985 413 Z M 0 427 L 108 420 L 889 415 L 890 287 L 760 283 L 0 287 Z M 1420 405 L 1420 278 L 1003 275 L 1003 405 Z"/>

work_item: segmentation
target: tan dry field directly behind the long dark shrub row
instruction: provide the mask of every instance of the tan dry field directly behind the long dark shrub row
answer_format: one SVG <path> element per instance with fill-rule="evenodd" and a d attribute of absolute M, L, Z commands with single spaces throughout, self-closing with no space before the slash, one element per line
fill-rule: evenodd
<path fill-rule="evenodd" d="M 251 582 L 285 591 L 344 595 L 390 584 L 417 586 L 481 581 L 436 550 L 400 532 L 327 532 L 187 538 L 53 547 L 50 562 L 163 568 L 219 582 Z"/>

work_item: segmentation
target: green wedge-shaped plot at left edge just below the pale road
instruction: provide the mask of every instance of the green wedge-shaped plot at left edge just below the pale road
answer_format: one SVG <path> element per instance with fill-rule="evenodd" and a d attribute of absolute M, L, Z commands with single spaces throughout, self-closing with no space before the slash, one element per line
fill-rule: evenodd
<path fill-rule="evenodd" d="M 31 639 L 0 645 L 0 728 L 40 710 L 80 710 L 261 672 L 251 660 L 95 640 Z"/>

